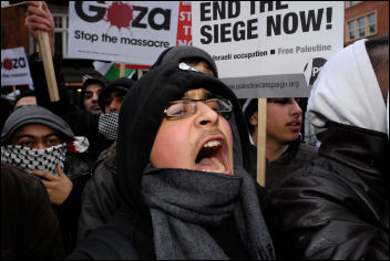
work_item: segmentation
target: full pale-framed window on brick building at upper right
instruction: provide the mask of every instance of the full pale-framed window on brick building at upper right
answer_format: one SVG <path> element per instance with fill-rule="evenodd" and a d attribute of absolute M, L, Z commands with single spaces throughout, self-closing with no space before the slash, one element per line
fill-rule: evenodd
<path fill-rule="evenodd" d="M 370 36 L 377 33 L 377 12 L 347 22 L 346 39 L 348 41 Z"/>

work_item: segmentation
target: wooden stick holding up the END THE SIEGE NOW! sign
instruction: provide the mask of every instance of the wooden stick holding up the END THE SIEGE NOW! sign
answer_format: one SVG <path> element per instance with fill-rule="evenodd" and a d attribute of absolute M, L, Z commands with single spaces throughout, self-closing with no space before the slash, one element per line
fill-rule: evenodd
<path fill-rule="evenodd" d="M 266 187 L 267 98 L 258 98 L 257 182 Z"/>

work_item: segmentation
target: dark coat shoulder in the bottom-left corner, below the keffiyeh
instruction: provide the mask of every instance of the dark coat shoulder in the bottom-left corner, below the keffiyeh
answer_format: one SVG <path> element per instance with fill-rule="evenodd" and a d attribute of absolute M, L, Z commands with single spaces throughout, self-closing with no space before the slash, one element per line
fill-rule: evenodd
<path fill-rule="evenodd" d="M 1 259 L 63 257 L 59 221 L 43 184 L 1 163 Z"/>

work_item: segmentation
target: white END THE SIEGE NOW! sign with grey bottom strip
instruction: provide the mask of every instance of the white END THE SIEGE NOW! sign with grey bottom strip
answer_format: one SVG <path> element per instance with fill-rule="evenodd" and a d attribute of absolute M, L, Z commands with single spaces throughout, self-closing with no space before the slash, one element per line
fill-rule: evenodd
<path fill-rule="evenodd" d="M 193 44 L 238 97 L 309 96 L 343 46 L 343 2 L 192 2 Z"/>

